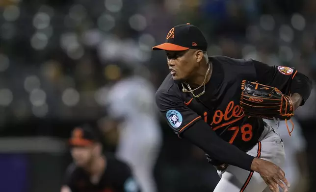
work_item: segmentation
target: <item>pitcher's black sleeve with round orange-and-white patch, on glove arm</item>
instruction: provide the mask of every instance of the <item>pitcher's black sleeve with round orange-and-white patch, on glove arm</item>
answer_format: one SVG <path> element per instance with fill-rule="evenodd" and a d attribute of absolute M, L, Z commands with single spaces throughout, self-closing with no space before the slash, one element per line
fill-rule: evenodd
<path fill-rule="evenodd" d="M 298 93 L 303 105 L 311 94 L 312 81 L 294 68 L 285 66 L 268 66 L 253 60 L 258 83 L 278 88 L 283 94 Z"/>

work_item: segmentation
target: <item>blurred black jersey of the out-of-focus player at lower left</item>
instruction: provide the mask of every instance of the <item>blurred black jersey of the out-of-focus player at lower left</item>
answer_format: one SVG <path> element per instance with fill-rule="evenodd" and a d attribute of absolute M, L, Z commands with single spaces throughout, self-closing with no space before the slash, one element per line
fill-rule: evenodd
<path fill-rule="evenodd" d="M 91 183 L 87 171 L 71 164 L 67 168 L 64 185 L 72 192 L 139 192 L 131 169 L 114 157 L 106 158 L 105 171 L 97 184 Z"/>

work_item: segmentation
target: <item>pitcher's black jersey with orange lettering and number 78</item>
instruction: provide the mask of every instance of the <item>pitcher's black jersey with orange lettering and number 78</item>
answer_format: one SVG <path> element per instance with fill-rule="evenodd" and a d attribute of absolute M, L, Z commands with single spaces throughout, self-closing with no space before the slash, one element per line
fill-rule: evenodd
<path fill-rule="evenodd" d="M 184 130 L 203 120 L 226 142 L 243 151 L 253 147 L 263 132 L 264 124 L 261 118 L 245 116 L 239 106 L 243 79 L 277 87 L 285 94 L 290 94 L 290 91 L 299 93 L 304 100 L 309 96 L 299 90 L 298 84 L 292 86 L 292 79 L 298 74 L 294 68 L 270 67 L 255 60 L 225 56 L 214 56 L 209 60 L 213 69 L 202 96 L 193 98 L 191 93 L 184 93 L 181 82 L 174 81 L 171 74 L 156 93 L 160 112 L 179 137 Z M 194 93 L 202 91 L 203 87 Z"/>

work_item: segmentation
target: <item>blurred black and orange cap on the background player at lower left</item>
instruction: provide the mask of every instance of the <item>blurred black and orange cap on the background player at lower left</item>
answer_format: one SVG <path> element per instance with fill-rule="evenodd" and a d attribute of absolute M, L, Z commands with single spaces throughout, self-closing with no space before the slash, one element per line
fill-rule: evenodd
<path fill-rule="evenodd" d="M 99 143 L 100 139 L 97 133 L 88 124 L 75 127 L 72 130 L 69 144 L 71 146 L 90 146 Z"/>

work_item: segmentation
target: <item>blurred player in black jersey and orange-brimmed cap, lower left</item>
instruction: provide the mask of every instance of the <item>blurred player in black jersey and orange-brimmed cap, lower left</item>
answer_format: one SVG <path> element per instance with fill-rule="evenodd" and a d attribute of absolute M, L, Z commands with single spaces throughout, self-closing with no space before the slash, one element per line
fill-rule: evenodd
<path fill-rule="evenodd" d="M 74 162 L 67 168 L 61 192 L 139 192 L 131 169 L 103 155 L 102 144 L 89 125 L 76 127 L 69 142 Z"/>

